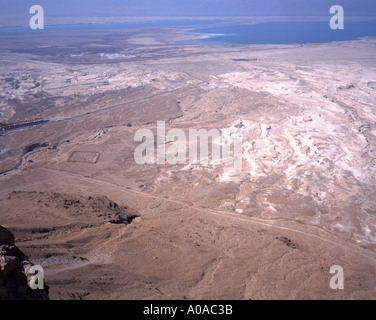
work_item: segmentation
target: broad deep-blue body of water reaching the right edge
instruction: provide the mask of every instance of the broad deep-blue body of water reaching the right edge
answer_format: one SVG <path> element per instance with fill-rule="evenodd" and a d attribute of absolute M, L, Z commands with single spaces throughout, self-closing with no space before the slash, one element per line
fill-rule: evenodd
<path fill-rule="evenodd" d="M 332 30 L 327 22 L 265 22 L 254 25 L 212 27 L 192 33 L 213 34 L 209 38 L 184 40 L 185 44 L 304 44 L 356 40 L 376 36 L 376 21 L 345 22 L 343 30 Z"/>

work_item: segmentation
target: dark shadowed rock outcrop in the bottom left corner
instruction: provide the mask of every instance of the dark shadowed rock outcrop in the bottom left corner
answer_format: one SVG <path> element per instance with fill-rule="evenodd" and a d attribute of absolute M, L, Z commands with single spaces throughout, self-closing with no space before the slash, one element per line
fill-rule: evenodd
<path fill-rule="evenodd" d="M 14 235 L 0 226 L 0 300 L 49 300 L 48 287 L 31 289 L 33 264 L 14 244 Z"/>

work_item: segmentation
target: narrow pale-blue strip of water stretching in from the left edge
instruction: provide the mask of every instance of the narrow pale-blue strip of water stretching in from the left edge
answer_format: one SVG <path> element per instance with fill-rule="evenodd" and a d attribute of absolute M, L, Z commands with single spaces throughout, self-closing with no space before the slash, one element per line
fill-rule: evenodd
<path fill-rule="evenodd" d="M 43 31 L 72 31 L 72 30 L 116 30 L 136 29 L 151 27 L 181 27 L 194 25 L 209 25 L 222 20 L 161 20 L 145 22 L 124 22 L 124 23 L 91 23 L 91 24 L 68 24 L 68 25 L 46 25 L 42 30 L 32 30 L 30 27 L 0 27 L 0 33 L 19 32 L 43 32 Z"/>

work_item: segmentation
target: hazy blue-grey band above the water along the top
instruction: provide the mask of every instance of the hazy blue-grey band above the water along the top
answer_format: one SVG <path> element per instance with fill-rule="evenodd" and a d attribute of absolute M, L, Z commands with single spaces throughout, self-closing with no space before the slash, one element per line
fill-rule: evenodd
<path fill-rule="evenodd" d="M 29 15 L 34 4 L 51 17 L 82 16 L 324 16 L 340 4 L 345 15 L 376 16 L 376 0 L 0 0 L 0 17 Z"/>

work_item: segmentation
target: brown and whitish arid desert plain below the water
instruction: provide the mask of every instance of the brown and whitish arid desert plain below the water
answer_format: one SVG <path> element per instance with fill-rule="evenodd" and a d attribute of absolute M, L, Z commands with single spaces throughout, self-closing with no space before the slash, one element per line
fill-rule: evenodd
<path fill-rule="evenodd" d="M 184 30 L 0 35 L 0 225 L 50 298 L 376 299 L 376 39 Z M 241 135 L 241 173 L 136 164 L 157 121 Z"/>

